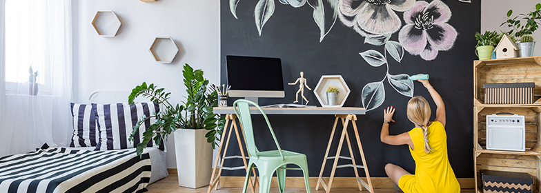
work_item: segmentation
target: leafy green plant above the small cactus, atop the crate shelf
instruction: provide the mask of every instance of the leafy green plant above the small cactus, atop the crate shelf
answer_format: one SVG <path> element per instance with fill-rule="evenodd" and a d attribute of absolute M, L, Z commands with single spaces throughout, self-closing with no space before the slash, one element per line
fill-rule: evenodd
<path fill-rule="evenodd" d="M 541 25 L 541 3 L 535 5 L 535 10 L 527 14 L 518 14 L 518 16 L 511 19 L 513 10 L 507 12 L 507 20 L 500 25 L 503 26 L 507 23 L 507 26 L 511 29 L 508 34 L 511 34 L 511 37 L 520 38 L 524 34 L 533 34 L 535 30 Z M 522 17 L 518 19 L 518 17 Z M 525 21 L 524 24 L 522 21 Z"/>

